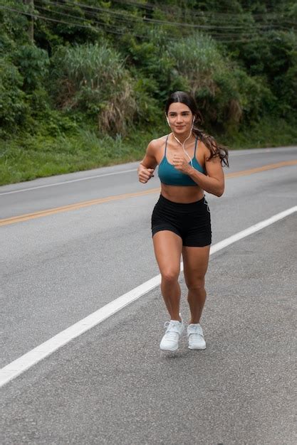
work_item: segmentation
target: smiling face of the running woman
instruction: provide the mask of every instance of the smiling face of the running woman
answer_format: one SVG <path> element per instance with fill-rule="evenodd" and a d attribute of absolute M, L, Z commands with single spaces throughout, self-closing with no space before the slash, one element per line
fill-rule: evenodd
<path fill-rule="evenodd" d="M 191 130 L 194 115 L 187 105 L 173 102 L 168 109 L 167 118 L 172 132 L 183 134 Z"/>

